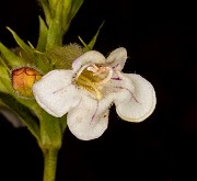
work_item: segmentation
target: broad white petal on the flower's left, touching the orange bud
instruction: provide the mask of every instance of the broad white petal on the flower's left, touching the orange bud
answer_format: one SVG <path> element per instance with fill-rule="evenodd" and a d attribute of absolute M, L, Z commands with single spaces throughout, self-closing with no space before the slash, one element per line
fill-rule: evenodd
<path fill-rule="evenodd" d="M 80 101 L 71 79 L 71 70 L 53 70 L 45 75 L 33 86 L 37 103 L 49 114 L 61 117 Z"/>

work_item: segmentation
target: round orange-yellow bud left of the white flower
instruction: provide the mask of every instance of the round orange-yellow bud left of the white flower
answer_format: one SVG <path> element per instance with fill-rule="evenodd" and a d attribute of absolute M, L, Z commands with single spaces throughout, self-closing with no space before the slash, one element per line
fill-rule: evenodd
<path fill-rule="evenodd" d="M 19 95 L 32 98 L 32 87 L 42 78 L 38 70 L 31 67 L 22 67 L 12 71 L 12 87 Z"/>

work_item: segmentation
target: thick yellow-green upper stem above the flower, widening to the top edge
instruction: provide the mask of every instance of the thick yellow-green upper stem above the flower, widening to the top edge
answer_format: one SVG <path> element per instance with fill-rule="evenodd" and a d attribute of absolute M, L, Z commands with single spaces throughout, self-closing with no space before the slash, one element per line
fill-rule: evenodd
<path fill-rule="evenodd" d="M 45 49 L 62 46 L 63 35 L 68 31 L 73 16 L 76 16 L 83 1 L 84 0 L 48 0 L 50 18 L 47 20 L 48 34 Z"/>

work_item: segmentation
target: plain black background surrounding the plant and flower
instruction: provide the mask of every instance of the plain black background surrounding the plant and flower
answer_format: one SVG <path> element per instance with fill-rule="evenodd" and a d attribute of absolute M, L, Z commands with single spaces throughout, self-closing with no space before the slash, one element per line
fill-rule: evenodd
<path fill-rule="evenodd" d="M 15 46 L 10 26 L 36 44 L 36 0 L 0 4 L 0 41 Z M 89 42 L 105 20 L 95 49 L 107 55 L 128 50 L 125 72 L 136 72 L 155 88 L 158 104 L 140 124 L 124 122 L 111 111 L 109 127 L 91 142 L 65 133 L 57 181 L 197 181 L 197 11 L 189 1 L 143 2 L 85 0 L 65 43 Z M 0 180 L 40 181 L 43 157 L 25 128 L 0 117 Z M 3 178 L 4 177 L 4 178 Z"/>

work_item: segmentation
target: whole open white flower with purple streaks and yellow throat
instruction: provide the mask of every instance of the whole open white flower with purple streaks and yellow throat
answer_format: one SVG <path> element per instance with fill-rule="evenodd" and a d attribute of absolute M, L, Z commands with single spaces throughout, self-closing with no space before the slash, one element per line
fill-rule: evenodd
<path fill-rule="evenodd" d="M 154 110 L 152 84 L 136 73 L 123 73 L 127 52 L 117 48 L 105 58 L 90 50 L 72 70 L 53 70 L 33 86 L 38 104 L 49 114 L 67 114 L 69 129 L 79 139 L 100 137 L 108 125 L 109 106 L 128 122 L 141 122 Z"/>

